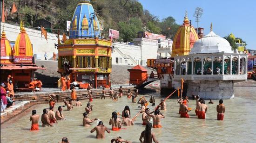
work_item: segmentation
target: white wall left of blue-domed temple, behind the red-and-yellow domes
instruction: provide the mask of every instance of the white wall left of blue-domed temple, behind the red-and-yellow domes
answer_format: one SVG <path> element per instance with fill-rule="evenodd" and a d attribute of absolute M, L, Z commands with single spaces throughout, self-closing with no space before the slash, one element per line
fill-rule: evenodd
<path fill-rule="evenodd" d="M 20 33 L 20 26 L 1 22 L 1 33 L 3 27 L 4 31 L 6 32 L 7 39 L 9 41 L 15 42 L 18 34 Z M 58 38 L 56 37 L 57 34 L 47 32 L 48 41 L 46 41 L 44 36 L 41 37 L 40 30 L 34 30 L 30 28 L 25 29 L 27 31 L 28 37 L 30 38 L 31 44 L 33 44 L 33 53 L 34 55 L 37 55 L 37 58 L 40 56 L 40 59 L 44 60 L 44 54 L 47 52 L 47 59 L 51 60 L 53 57 L 53 52 L 56 54 L 58 53 L 58 50 L 54 48 L 54 43 L 58 44 Z M 60 37 L 62 38 L 62 35 L 60 35 Z"/>

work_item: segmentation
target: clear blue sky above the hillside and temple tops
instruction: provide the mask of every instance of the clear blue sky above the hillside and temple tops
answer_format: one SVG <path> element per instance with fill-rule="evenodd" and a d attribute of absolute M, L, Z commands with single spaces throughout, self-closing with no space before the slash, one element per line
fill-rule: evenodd
<path fill-rule="evenodd" d="M 143 9 L 158 16 L 160 20 L 172 16 L 177 24 L 182 24 L 185 11 L 196 27 L 195 8 L 203 9 L 198 27 L 204 28 L 204 34 L 213 31 L 221 36 L 233 33 L 246 41 L 247 49 L 256 50 L 256 0 L 138 0 Z"/>

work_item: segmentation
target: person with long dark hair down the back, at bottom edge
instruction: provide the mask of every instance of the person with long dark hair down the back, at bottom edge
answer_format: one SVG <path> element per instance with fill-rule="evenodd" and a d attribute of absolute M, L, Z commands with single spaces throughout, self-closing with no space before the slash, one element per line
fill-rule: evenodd
<path fill-rule="evenodd" d="M 143 141 L 142 141 L 143 138 Z M 152 143 L 152 140 L 155 143 L 159 143 L 155 138 L 155 133 L 152 132 L 152 124 L 146 124 L 146 129 L 141 132 L 140 142 L 141 143 Z"/>

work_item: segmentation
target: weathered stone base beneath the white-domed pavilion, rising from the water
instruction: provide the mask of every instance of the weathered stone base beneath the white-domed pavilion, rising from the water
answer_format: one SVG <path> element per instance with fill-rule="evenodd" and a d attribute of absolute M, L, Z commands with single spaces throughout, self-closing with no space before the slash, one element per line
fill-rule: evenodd
<path fill-rule="evenodd" d="M 190 81 L 187 80 L 187 96 L 200 95 L 204 99 L 233 99 L 233 81 Z"/>

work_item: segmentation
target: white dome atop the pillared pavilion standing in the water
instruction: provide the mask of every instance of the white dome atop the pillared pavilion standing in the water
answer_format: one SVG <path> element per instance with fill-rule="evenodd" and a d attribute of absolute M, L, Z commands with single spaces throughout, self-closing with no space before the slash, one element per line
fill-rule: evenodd
<path fill-rule="evenodd" d="M 199 53 L 234 53 L 229 41 L 216 35 L 213 31 L 197 40 L 189 54 Z"/>

